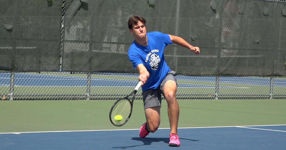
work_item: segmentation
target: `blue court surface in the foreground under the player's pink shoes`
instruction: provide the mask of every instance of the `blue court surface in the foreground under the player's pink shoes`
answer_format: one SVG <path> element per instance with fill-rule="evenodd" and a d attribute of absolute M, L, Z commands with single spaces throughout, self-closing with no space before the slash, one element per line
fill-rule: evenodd
<path fill-rule="evenodd" d="M 145 138 L 139 129 L 0 133 L 0 149 L 272 149 L 286 147 L 286 125 L 179 128 L 180 147 L 169 147 L 170 129 Z"/>

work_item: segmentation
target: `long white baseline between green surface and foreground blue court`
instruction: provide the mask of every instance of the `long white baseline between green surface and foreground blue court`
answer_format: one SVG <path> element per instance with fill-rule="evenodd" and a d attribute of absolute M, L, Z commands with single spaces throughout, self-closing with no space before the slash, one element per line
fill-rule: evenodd
<path fill-rule="evenodd" d="M 224 128 L 224 127 L 259 127 L 259 126 L 279 126 L 279 125 L 247 125 L 247 126 L 218 126 L 218 127 L 184 127 L 178 129 L 196 129 L 196 128 Z M 170 129 L 170 128 L 159 128 Z M 112 129 L 112 130 L 76 130 L 76 131 L 36 131 L 36 132 L 9 132 L 0 134 L 21 134 L 21 133 L 52 133 L 52 132 L 86 132 L 86 131 L 121 131 L 121 130 L 140 130 L 140 129 Z M 285 131 L 284 131 L 285 132 Z"/>

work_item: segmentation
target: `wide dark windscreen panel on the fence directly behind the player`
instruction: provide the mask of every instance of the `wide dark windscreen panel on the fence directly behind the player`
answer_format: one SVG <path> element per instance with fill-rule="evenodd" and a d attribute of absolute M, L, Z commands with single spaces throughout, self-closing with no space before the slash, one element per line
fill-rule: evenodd
<path fill-rule="evenodd" d="M 260 0 L 66 1 L 63 71 L 134 73 L 127 52 L 128 19 L 148 31 L 180 36 L 196 55 L 165 47 L 170 69 L 182 75 L 286 76 L 285 3 Z"/>

